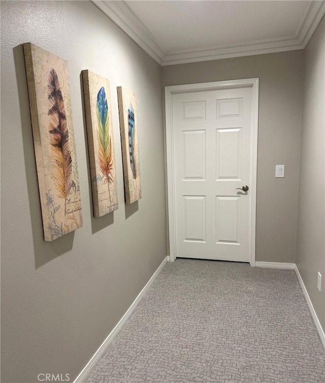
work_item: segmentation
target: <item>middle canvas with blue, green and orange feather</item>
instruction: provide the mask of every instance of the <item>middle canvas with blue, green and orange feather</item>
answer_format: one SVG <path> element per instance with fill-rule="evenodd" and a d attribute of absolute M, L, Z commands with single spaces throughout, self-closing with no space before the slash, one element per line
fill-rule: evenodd
<path fill-rule="evenodd" d="M 93 212 L 101 217 L 118 209 L 109 80 L 82 71 Z"/>

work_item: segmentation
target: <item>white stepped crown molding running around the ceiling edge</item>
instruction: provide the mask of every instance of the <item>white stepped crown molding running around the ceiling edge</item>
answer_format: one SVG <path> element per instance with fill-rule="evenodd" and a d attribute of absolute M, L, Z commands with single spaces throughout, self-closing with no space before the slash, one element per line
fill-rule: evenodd
<path fill-rule="evenodd" d="M 250 41 L 231 47 L 216 46 L 191 51 L 166 52 L 124 1 L 91 0 L 91 2 L 161 66 L 304 49 L 325 14 L 325 1 L 311 1 L 295 36 Z"/>

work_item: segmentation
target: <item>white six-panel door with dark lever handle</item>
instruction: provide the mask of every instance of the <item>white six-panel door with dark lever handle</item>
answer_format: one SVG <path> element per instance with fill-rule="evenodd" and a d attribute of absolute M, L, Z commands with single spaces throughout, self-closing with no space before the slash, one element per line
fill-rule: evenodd
<path fill-rule="evenodd" d="M 250 262 L 252 87 L 174 93 L 171 110 L 176 257 Z"/>

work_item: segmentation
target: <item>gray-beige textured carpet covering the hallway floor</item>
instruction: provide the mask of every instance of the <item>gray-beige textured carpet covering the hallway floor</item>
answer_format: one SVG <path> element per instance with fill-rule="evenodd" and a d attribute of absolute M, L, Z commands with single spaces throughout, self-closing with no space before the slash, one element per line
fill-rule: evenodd
<path fill-rule="evenodd" d="M 178 259 L 87 383 L 324 383 L 325 349 L 293 270 Z"/>

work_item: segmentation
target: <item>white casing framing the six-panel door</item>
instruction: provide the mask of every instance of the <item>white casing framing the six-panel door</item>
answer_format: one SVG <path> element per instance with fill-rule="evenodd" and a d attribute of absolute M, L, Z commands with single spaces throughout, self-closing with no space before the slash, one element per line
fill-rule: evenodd
<path fill-rule="evenodd" d="M 250 266 L 255 266 L 256 233 L 256 179 L 257 179 L 257 132 L 258 132 L 258 78 L 242 80 L 206 82 L 199 84 L 165 86 L 166 108 L 166 154 L 167 154 L 167 193 L 169 221 L 170 261 L 174 262 L 176 252 L 175 227 L 175 185 L 174 185 L 174 148 L 173 148 L 173 94 L 204 90 L 252 87 L 252 136 L 251 136 L 251 208 L 250 208 Z"/>

